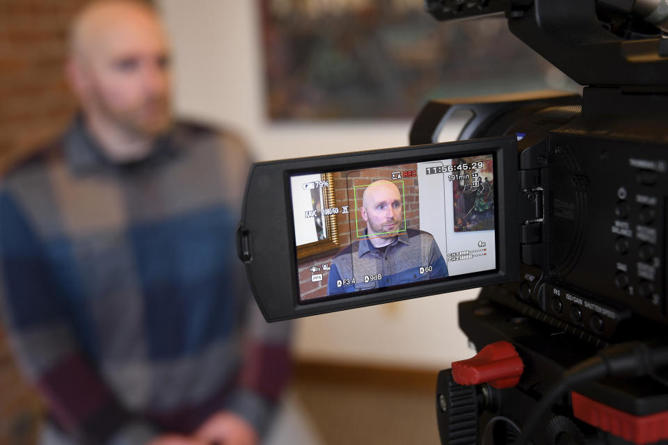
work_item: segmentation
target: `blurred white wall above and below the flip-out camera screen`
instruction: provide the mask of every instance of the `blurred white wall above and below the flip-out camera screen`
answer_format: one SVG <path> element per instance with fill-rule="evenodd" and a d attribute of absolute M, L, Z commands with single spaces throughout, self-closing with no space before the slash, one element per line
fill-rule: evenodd
<path fill-rule="evenodd" d="M 417 0 L 416 0 L 417 1 Z M 408 145 L 410 122 L 271 124 L 263 107 L 257 1 L 160 0 L 180 115 L 235 129 L 258 160 Z M 445 368 L 471 355 L 456 303 L 477 290 L 303 318 L 299 357 Z"/>

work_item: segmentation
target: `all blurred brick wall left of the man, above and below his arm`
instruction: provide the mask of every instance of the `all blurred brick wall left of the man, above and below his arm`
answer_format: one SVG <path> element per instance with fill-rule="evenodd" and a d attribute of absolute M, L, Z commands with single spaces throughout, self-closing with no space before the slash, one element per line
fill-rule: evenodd
<path fill-rule="evenodd" d="M 76 106 L 63 75 L 67 26 L 86 0 L 0 1 L 0 175 L 58 134 Z M 0 328 L 0 444 L 33 444 L 42 407 Z"/>

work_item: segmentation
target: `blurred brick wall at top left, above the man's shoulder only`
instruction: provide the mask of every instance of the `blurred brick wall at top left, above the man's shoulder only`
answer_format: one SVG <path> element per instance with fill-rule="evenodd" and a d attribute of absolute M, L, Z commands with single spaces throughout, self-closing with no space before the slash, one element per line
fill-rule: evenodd
<path fill-rule="evenodd" d="M 63 60 L 67 26 L 84 3 L 0 1 L 0 174 L 58 134 L 76 108 Z"/>

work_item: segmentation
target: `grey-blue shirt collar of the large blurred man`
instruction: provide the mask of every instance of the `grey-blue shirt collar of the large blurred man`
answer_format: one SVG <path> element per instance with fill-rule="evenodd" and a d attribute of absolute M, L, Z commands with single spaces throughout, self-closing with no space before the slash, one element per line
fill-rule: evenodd
<path fill-rule="evenodd" d="M 134 167 L 170 158 L 177 154 L 178 146 L 173 139 L 173 130 L 170 130 L 164 136 L 159 136 L 156 139 L 151 153 L 145 159 L 130 163 L 118 163 L 111 161 L 104 154 L 100 144 L 86 128 L 84 116 L 77 114 L 70 128 L 65 131 L 65 157 L 67 164 L 77 173 L 93 172 L 104 168 Z"/>

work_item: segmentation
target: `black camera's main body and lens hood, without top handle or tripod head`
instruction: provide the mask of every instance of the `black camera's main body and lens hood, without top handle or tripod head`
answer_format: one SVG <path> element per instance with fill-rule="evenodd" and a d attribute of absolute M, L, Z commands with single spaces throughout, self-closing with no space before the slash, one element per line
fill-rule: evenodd
<path fill-rule="evenodd" d="M 433 137 L 442 124 L 438 116 L 468 108 L 481 118 L 475 129 L 463 129 L 474 138 L 525 135 L 518 141 L 518 296 L 597 337 L 628 338 L 637 331 L 624 327 L 633 316 L 658 325 L 668 320 L 668 165 L 660 105 L 666 103 L 614 88 L 585 88 L 581 104 L 579 97 L 485 109 L 431 102 L 415 120 L 411 143 Z"/>

